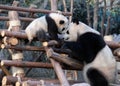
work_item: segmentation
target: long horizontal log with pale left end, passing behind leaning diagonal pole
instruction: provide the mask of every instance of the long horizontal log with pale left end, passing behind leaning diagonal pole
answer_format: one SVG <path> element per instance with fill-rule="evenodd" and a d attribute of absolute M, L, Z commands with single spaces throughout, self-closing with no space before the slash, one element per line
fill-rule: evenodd
<path fill-rule="evenodd" d="M 29 67 L 29 68 L 53 68 L 51 63 L 43 62 L 28 62 L 28 61 L 12 61 L 12 60 L 2 60 L 1 64 L 3 66 L 15 66 L 15 67 Z M 67 70 L 81 70 L 82 68 L 66 67 L 62 66 L 63 69 Z"/>

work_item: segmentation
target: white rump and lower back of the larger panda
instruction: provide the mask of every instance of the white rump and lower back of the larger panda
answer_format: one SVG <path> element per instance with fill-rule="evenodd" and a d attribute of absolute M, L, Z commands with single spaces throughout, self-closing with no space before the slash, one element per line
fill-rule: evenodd
<path fill-rule="evenodd" d="M 116 61 L 107 45 L 96 55 L 95 59 L 91 63 L 85 65 L 85 78 L 87 77 L 87 71 L 91 68 L 95 68 L 100 71 L 110 82 L 114 82 L 116 74 Z"/>

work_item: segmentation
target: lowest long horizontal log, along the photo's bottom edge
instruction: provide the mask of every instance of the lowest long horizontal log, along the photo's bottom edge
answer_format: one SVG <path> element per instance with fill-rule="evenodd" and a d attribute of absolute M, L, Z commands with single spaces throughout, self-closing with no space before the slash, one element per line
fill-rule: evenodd
<path fill-rule="evenodd" d="M 54 83 L 54 84 L 59 84 L 59 80 L 57 79 L 39 79 L 39 78 L 27 78 L 27 77 L 13 77 L 13 76 L 4 76 L 2 79 L 2 86 L 6 86 L 6 85 L 14 85 L 15 83 L 19 82 L 19 79 L 21 80 L 21 82 L 23 81 L 40 81 L 40 80 L 44 80 L 45 83 Z M 82 81 L 74 81 L 74 80 L 69 80 L 70 84 L 74 84 L 74 83 L 80 83 Z M 20 83 L 21 84 L 21 83 Z"/>

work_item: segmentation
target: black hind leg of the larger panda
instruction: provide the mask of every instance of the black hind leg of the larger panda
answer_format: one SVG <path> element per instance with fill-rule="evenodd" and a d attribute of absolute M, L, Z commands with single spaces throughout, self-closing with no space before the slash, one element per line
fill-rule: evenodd
<path fill-rule="evenodd" d="M 86 74 L 91 86 L 109 86 L 107 79 L 97 69 L 89 68 Z"/>

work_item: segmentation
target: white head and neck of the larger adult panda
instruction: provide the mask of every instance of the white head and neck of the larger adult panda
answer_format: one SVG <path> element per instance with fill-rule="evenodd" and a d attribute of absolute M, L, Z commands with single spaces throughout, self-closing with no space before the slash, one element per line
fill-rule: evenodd
<path fill-rule="evenodd" d="M 78 37 L 87 33 L 91 32 L 94 34 L 100 34 L 98 31 L 92 29 L 91 27 L 87 26 L 82 22 L 71 22 L 68 28 L 63 31 L 62 39 L 65 41 L 77 41 Z"/>

